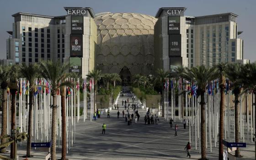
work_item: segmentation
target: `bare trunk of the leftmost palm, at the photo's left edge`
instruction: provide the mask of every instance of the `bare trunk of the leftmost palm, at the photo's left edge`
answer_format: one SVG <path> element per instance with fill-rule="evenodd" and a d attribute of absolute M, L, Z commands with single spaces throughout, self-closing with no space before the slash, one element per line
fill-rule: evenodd
<path fill-rule="evenodd" d="M 7 134 L 7 89 L 2 89 L 2 128 L 1 128 L 1 136 Z M 6 142 L 5 139 L 1 139 L 1 144 Z M 5 153 L 6 148 L 0 150 L 0 153 Z"/>

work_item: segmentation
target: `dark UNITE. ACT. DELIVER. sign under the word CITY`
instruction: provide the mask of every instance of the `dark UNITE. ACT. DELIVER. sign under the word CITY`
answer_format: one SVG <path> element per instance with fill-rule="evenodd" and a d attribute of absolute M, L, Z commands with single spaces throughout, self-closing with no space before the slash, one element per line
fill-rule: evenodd
<path fill-rule="evenodd" d="M 180 34 L 180 16 L 168 16 L 168 34 Z"/>

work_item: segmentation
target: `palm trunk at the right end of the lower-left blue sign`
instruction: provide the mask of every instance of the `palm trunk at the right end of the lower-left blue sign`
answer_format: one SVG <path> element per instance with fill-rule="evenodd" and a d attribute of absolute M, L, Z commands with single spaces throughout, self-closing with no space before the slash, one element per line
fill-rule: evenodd
<path fill-rule="evenodd" d="M 57 99 L 56 93 L 53 93 L 52 105 L 52 147 L 51 147 L 51 160 L 56 160 L 56 111 Z"/>

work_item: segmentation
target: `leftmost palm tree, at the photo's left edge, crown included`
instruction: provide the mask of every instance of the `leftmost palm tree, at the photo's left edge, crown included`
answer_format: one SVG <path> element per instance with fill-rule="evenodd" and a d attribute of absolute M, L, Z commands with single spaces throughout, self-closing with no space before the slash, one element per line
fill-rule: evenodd
<path fill-rule="evenodd" d="M 7 87 L 8 87 L 8 73 L 10 67 L 3 66 L 0 68 L 0 86 L 2 90 L 2 128 L 1 128 L 1 136 L 7 134 Z M 1 144 L 6 142 L 5 139 L 1 139 Z M 0 153 L 5 153 L 6 148 L 2 148 Z"/>

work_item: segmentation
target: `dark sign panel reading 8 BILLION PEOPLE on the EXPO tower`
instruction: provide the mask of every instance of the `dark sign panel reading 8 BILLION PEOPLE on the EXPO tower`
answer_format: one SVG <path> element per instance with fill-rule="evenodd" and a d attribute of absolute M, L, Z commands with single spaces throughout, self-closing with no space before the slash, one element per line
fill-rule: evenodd
<path fill-rule="evenodd" d="M 70 57 L 83 56 L 83 35 L 70 34 Z"/>

